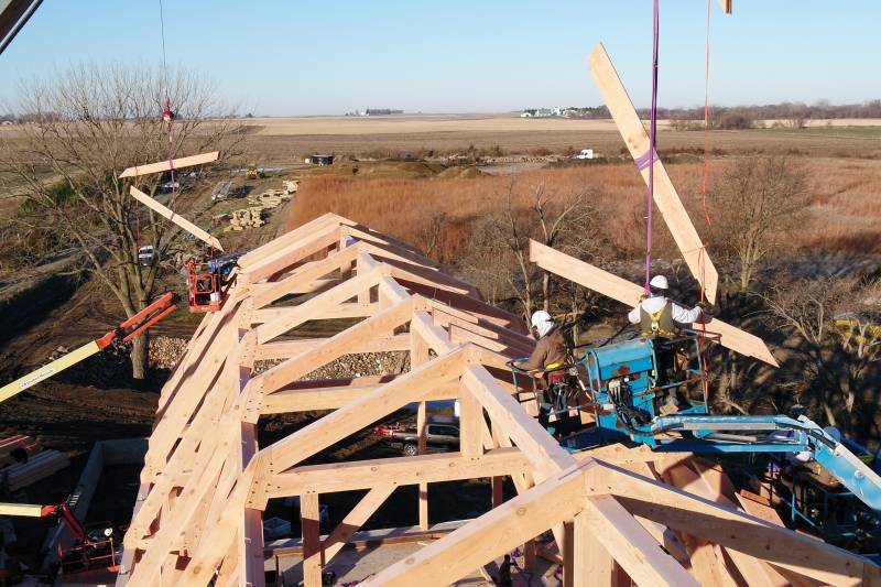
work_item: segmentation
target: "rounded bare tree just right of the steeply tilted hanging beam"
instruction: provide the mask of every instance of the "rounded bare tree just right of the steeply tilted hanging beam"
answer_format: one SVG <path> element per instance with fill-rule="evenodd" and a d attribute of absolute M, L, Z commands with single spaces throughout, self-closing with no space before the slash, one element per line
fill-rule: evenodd
<path fill-rule="evenodd" d="M 746 292 L 759 263 L 804 219 L 807 184 L 782 157 L 749 157 L 725 172 L 714 189 L 714 252 L 735 261 Z"/>

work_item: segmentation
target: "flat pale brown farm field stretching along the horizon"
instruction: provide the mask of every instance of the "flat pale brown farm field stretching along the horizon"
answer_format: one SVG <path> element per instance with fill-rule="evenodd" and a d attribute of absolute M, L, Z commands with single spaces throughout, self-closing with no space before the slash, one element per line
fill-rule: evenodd
<path fill-rule="evenodd" d="M 773 121 L 768 121 L 772 123 Z M 714 131 L 713 149 L 728 154 L 802 153 L 816 156 L 881 156 L 881 120 L 811 121 L 806 129 Z M 860 124 L 842 126 L 844 122 Z M 514 115 L 254 118 L 243 121 L 250 154 L 264 164 L 291 164 L 308 153 L 396 157 L 477 150 L 503 153 L 574 152 L 606 155 L 623 149 L 611 120 L 519 118 Z M 831 126 L 827 127 L 827 123 Z M 663 150 L 703 150 L 704 133 L 676 131 L 662 121 Z"/>

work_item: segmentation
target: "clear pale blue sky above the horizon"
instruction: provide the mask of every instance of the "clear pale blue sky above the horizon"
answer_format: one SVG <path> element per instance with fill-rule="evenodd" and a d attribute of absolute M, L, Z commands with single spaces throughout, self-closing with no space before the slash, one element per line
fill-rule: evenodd
<path fill-rule="evenodd" d="M 881 3 L 735 0 L 726 17 L 713 1 L 715 104 L 881 98 Z M 254 113 L 595 106 L 599 41 L 649 104 L 649 0 L 164 3 L 168 63 Z M 662 0 L 661 106 L 703 105 L 705 18 L 705 0 Z M 0 56 L 0 101 L 21 77 L 109 59 L 161 63 L 159 0 L 45 0 Z"/>

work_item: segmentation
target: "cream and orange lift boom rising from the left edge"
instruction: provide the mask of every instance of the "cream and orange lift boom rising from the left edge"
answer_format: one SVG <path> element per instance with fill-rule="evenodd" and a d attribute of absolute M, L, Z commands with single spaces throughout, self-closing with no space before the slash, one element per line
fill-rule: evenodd
<path fill-rule="evenodd" d="M 131 341 L 134 337 L 174 312 L 174 309 L 177 307 L 175 302 L 175 294 L 168 292 L 131 318 L 121 323 L 118 327 L 108 331 L 102 337 L 83 345 L 78 349 L 68 352 L 64 357 L 55 359 L 51 363 L 45 365 L 40 369 L 3 385 L 0 388 L 0 402 L 4 402 L 13 395 L 17 395 L 22 391 L 40 383 L 44 379 L 48 379 L 50 377 L 64 371 L 68 367 L 73 367 L 74 365 L 91 357 L 96 352 L 106 349 L 117 338 L 121 337 L 122 343 Z"/>

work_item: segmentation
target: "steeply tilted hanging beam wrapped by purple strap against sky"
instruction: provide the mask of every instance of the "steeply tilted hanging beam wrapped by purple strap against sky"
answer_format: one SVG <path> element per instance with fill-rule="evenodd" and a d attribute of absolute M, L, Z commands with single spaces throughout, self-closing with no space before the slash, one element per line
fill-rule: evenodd
<path fill-rule="evenodd" d="M 664 164 L 656 153 L 649 153 L 651 144 L 649 133 L 645 132 L 645 127 L 643 127 L 637 109 L 633 108 L 633 102 L 621 84 L 602 43 L 594 48 L 588 62 L 594 81 L 599 87 L 602 99 L 606 100 L 606 106 L 609 108 L 631 156 L 637 161 L 646 185 L 649 166 L 654 166 L 654 203 L 664 217 L 692 275 L 704 287 L 707 300 L 716 302 L 719 273 L 709 258 L 704 241 L 700 240 L 694 224 L 692 224 Z"/>

